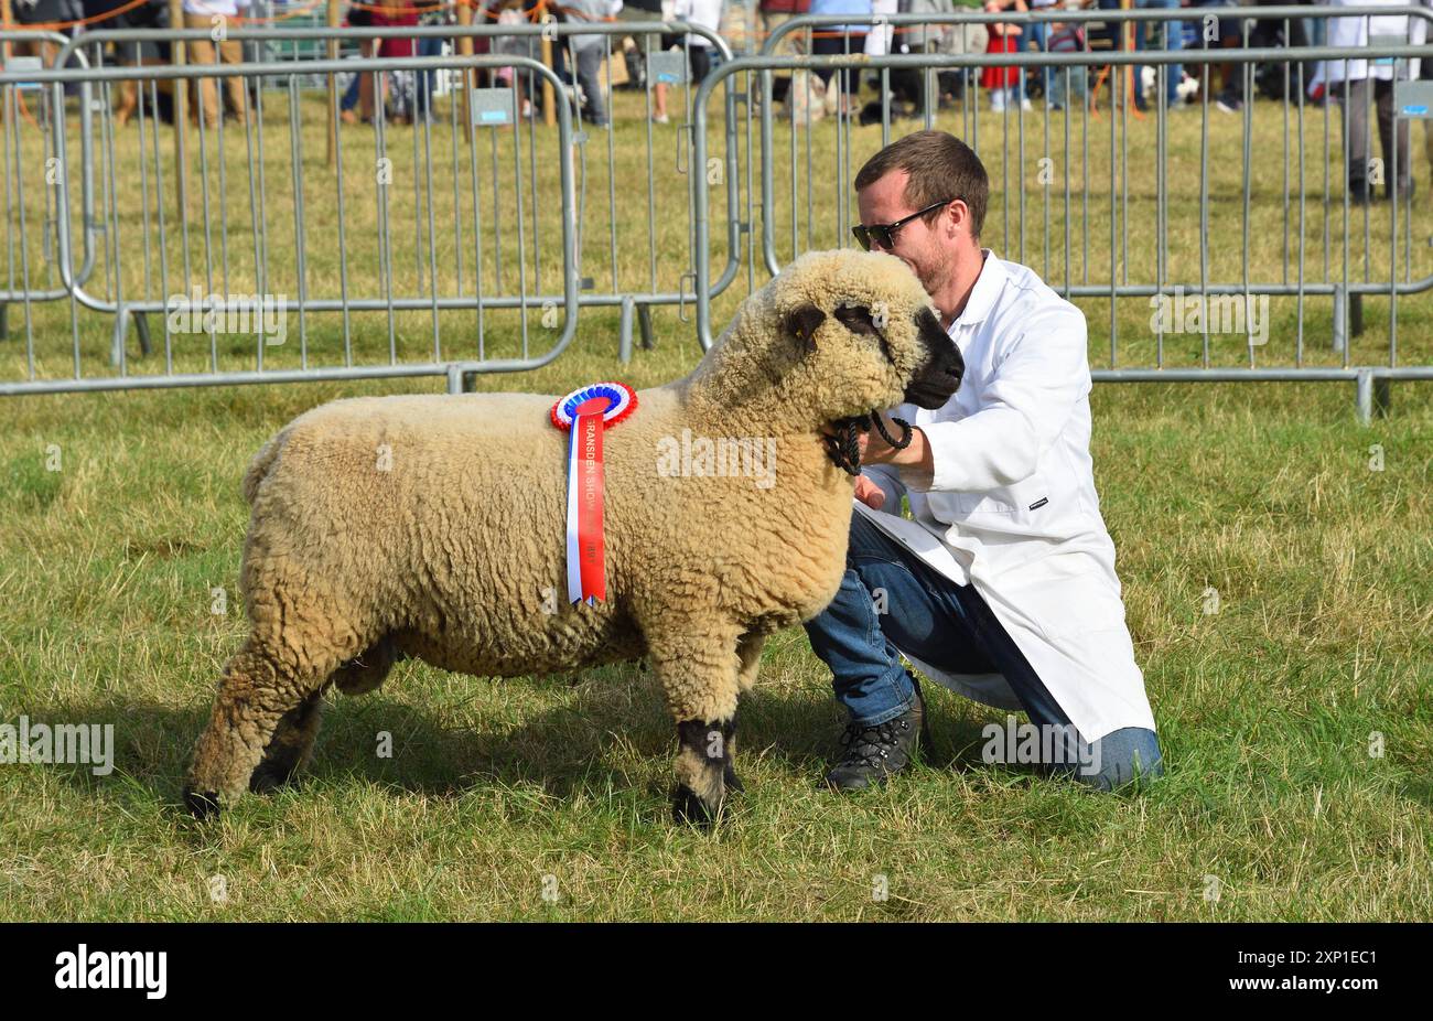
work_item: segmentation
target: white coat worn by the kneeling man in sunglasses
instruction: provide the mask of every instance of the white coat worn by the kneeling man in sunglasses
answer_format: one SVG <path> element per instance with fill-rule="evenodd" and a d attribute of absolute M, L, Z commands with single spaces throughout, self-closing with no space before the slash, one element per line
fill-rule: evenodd
<path fill-rule="evenodd" d="M 966 360 L 956 396 L 894 413 L 924 432 L 934 476 L 868 466 L 886 508 L 857 502 L 884 532 L 959 584 L 972 584 L 1086 741 L 1155 728 L 1135 664 L 1089 455 L 1085 315 L 1035 271 L 983 250 L 984 265 L 950 326 Z M 933 680 L 976 701 L 1020 708 L 1000 674 Z"/>

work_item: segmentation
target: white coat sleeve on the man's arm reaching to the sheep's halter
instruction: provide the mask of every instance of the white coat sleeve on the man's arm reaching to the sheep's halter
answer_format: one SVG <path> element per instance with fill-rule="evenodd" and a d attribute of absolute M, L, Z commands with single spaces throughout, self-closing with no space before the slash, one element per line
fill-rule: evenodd
<path fill-rule="evenodd" d="M 1029 317 L 979 409 L 920 427 L 934 466 L 929 490 L 980 493 L 1030 478 L 1089 389 L 1083 313 L 1062 303 Z M 903 479 L 919 488 L 911 475 Z"/>

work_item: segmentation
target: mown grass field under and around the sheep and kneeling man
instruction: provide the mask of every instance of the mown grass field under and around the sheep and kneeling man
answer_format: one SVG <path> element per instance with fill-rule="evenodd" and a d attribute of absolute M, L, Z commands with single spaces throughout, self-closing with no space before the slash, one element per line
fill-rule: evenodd
<path fill-rule="evenodd" d="M 623 179 L 641 181 L 643 136 L 632 113 L 619 113 L 628 120 L 615 149 L 631 161 L 619 165 Z M 1171 135 L 1188 168 L 1198 118 L 1176 120 Z M 878 128 L 854 136 L 857 155 L 880 142 Z M 351 129 L 345 138 L 370 136 Z M 999 146 L 989 142 L 999 122 L 982 138 L 999 186 Z M 1132 149 L 1151 138 L 1132 139 Z M 1214 161 L 1225 217 L 1237 138 L 1221 145 L 1232 146 Z M 818 163 L 831 159 L 830 146 L 823 136 Z M 312 148 L 321 149 L 321 135 Z M 287 152 L 269 159 L 282 171 Z M 1092 179 L 1108 175 L 1103 166 Z M 1144 261 L 1152 178 L 1142 166 L 1131 166 L 1131 251 L 1141 260 L 1132 278 L 1152 272 Z M 1281 169 L 1275 161 L 1255 171 L 1257 265 L 1271 277 L 1281 270 L 1271 238 L 1283 222 Z M 1420 188 L 1427 172 L 1417 163 Z M 1197 237 L 1191 176 L 1181 171 L 1171 206 L 1179 260 Z M 662 182 L 684 186 L 671 174 Z M 663 202 L 681 208 L 679 199 L 663 191 Z M 1091 204 L 1108 231 L 1108 194 L 1092 192 Z M 132 206 L 126 215 L 138 215 Z M 1429 234 L 1429 209 L 1420 196 L 1417 237 Z M 1015 257 L 997 217 L 993 209 L 986 242 Z M 645 218 L 633 222 L 645 228 Z M 593 231 L 599 251 L 605 229 Z M 782 225 L 778 237 L 787 232 Z M 682 244 L 679 225 L 662 235 L 666 278 L 685 268 Z M 1238 265 L 1228 247 L 1219 245 L 1224 271 L 1215 274 L 1225 278 Z M 636 248 L 629 271 L 641 275 L 645 241 Z M 1108 241 L 1096 237 L 1093 250 L 1108 258 Z M 373 255 L 350 250 L 353 280 L 368 294 L 380 281 Z M 281 245 L 272 258 L 292 270 Z M 1414 277 L 1426 274 L 1429 251 L 1413 258 Z M 724 298 L 718 324 L 737 297 Z M 1099 364 L 1109 303 L 1082 304 Z M 1426 297 L 1400 301 L 1403 363 L 1433 358 L 1429 305 Z M 1261 360 L 1291 360 L 1291 308 L 1275 303 Z M 1148 364 L 1148 304 L 1121 303 L 1116 314 L 1128 363 Z M 36 307 L 33 315 L 42 361 L 67 358 L 69 308 Z M 1367 317 L 1354 364 L 1387 358 L 1386 304 L 1370 300 Z M 355 317 L 355 350 L 387 356 L 384 320 Z M 1310 303 L 1310 360 L 1333 361 L 1327 321 L 1328 308 Z M 26 371 L 19 323 L 11 307 L 13 340 L 0 343 L 4 379 Z M 512 320 L 504 323 L 493 343 L 512 346 Z M 615 327 L 615 313 L 585 313 L 573 347 L 553 364 L 479 377 L 477 386 L 559 393 L 612 374 L 652 386 L 698 358 L 689 326 L 661 310 L 655 350 L 619 369 Z M 93 360 L 86 364 L 97 371 L 107 321 L 82 318 L 80 328 Z M 341 351 L 337 317 L 314 317 L 310 328 L 312 351 Z M 467 337 L 463 328 L 444 318 L 444 347 L 447 331 Z M 423 314 L 400 317 L 397 333 L 416 344 L 413 357 L 431 347 Z M 252 341 L 229 340 L 219 341 L 224 357 L 246 367 Z M 1219 343 L 1217 361 L 1247 357 L 1242 338 Z M 1197 344 L 1181 344 L 1166 354 L 1192 363 Z M 206 341 L 198 353 L 176 348 L 176 364 L 199 369 L 211 354 Z M 150 370 L 138 360 L 130 367 Z M 1096 482 L 1169 769 L 1141 796 L 1098 796 L 982 764 L 980 728 L 1003 714 L 940 690 L 931 693 L 934 747 L 921 766 L 868 796 L 821 792 L 841 714 L 825 668 L 804 635 L 788 631 L 768 647 L 742 706 L 747 793 L 709 835 L 669 822 L 672 726 L 639 667 L 499 681 L 413 661 L 378 693 L 330 706 L 302 784 L 246 797 L 218 825 L 198 826 L 176 800 L 219 668 L 245 630 L 235 584 L 246 523 L 238 480 L 249 456 L 324 400 L 438 389 L 418 380 L 0 404 L 0 723 L 21 714 L 112 723 L 116 740 L 106 777 L 85 766 L 0 766 L 0 918 L 1433 916 L 1426 383 L 1396 386 L 1391 417 L 1370 427 L 1356 423 L 1347 384 L 1096 387 Z M 52 472 L 56 449 L 60 470 Z M 216 587 L 226 592 L 225 614 L 214 612 Z M 1218 592 L 1212 614 L 1209 588 Z M 391 757 L 377 754 L 383 733 Z M 877 895 L 883 888 L 888 898 Z"/>

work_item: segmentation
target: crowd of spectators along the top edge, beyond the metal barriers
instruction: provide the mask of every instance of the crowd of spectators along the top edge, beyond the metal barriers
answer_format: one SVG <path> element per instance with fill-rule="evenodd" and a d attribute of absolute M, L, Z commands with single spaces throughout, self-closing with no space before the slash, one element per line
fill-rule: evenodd
<path fill-rule="evenodd" d="M 984 11 L 1022 13 L 1027 10 L 1056 13 L 1063 9 L 1119 9 L 1128 1 L 1138 10 L 1182 9 L 1188 17 L 1162 22 L 1136 22 L 1128 26 L 1115 22 L 1017 20 L 984 23 L 920 23 L 893 27 L 884 16 L 940 16 L 969 10 L 983 3 Z M 1244 0 L 1244 4 L 1264 6 L 1277 0 Z M 1360 7 L 1387 6 L 1389 0 L 1333 0 L 1357 14 Z M 242 23 L 249 14 L 249 0 L 183 0 L 183 26 L 211 29 L 215 17 Z M 1185 47 L 1218 47 L 1234 50 L 1251 47 L 1301 47 L 1333 44 L 1367 47 L 1373 40 L 1407 39 L 1423 43 L 1426 22 L 1399 14 L 1373 14 L 1340 19 L 1245 19 L 1222 14 L 1234 0 L 476 0 L 476 24 L 519 26 L 535 24 L 553 17 L 566 23 L 612 22 L 685 22 L 692 30 L 671 33 L 573 33 L 559 37 L 550 46 L 550 59 L 557 73 L 569 83 L 567 95 L 585 123 L 605 128 L 610 123 L 610 87 L 646 89 L 651 86 L 649 116 L 656 123 L 671 119 L 668 93 L 672 85 L 686 80 L 695 87 L 719 60 L 719 49 L 712 44 L 724 37 L 735 52 L 755 50 L 772 33 L 780 33 L 774 52 L 778 54 L 843 54 L 866 53 L 1072 53 L 1103 49 L 1181 50 Z M 751 3 L 755 10 L 751 10 Z M 1433 0 L 1394 0 L 1394 6 L 1433 7 Z M 272 13 L 269 9 L 268 13 Z M 813 14 L 830 19 L 850 19 L 820 26 L 814 30 L 781 33 L 792 17 Z M 168 0 L 11 0 L 11 17 L 24 26 L 57 26 L 82 32 L 83 26 L 106 29 L 166 29 Z M 351 3 L 345 23 L 355 27 L 404 29 L 420 24 L 453 24 L 457 6 L 446 0 L 367 0 Z M 1212 27 L 1212 32 L 1209 30 Z M 388 34 L 368 40 L 360 54 L 378 57 L 437 56 L 451 46 L 451 40 L 434 36 Z M 53 43 L 17 44 L 19 52 L 46 54 Z M 496 53 L 516 57 L 543 59 L 542 37 L 535 33 L 497 33 L 473 37 L 476 53 Z M 665 62 L 653 62 L 659 52 L 671 52 Z M 245 54 L 232 39 L 196 39 L 186 43 L 191 63 L 238 63 Z M 1234 56 L 1231 53 L 1231 56 Z M 115 47 L 113 59 L 126 65 L 163 63 L 171 59 L 169 44 L 155 42 L 125 43 Z M 685 62 L 685 75 L 674 72 Z M 891 109 L 913 113 L 927 102 L 962 102 L 967 82 L 974 77 L 980 93 L 987 96 L 990 109 L 1019 108 L 1027 110 L 1043 102 L 1050 110 L 1086 102 L 1092 82 L 1091 66 L 986 66 L 977 76 L 941 72 L 934 79 L 939 95 L 927 96 L 929 77 L 920 72 L 891 72 L 888 85 Z M 606 67 L 606 73 L 603 69 Z M 656 70 L 649 75 L 649 67 Z M 1187 73 L 1188 72 L 1188 73 Z M 1347 60 L 1294 62 L 1291 65 L 1251 66 L 1230 60 L 1211 66 L 1208 72 L 1208 102 L 1222 113 L 1238 113 L 1257 95 L 1284 102 L 1323 103 L 1333 100 L 1347 116 L 1351 171 L 1350 191 L 1356 201 L 1369 195 L 1367 175 L 1357 168 L 1369 161 L 1369 112 L 1376 110 L 1379 138 L 1386 165 L 1394 161 L 1400 168 L 1397 186 L 1412 192 L 1406 181 L 1410 168 L 1409 122 L 1394 118 L 1393 83 L 1396 77 L 1433 77 L 1433 60 Z M 520 93 L 523 116 L 536 116 L 540 95 L 523 75 L 512 67 L 481 76 L 487 85 L 513 85 Z M 863 80 L 864 79 L 864 80 Z M 1204 75 L 1197 66 L 1165 63 L 1136 66 L 1132 82 L 1134 102 L 1139 109 L 1162 100 L 1168 110 L 1179 110 L 1204 99 L 1198 89 Z M 434 72 L 394 72 L 385 75 L 354 75 L 341 102 L 345 122 L 371 122 L 381 110 L 396 122 L 411 122 L 431 109 L 437 86 Z M 813 108 L 838 110 L 863 119 L 878 119 L 883 102 L 863 108 L 863 89 L 878 86 L 874 72 L 866 75 L 854 69 L 817 69 L 814 73 L 777 75 L 772 99 L 784 105 L 792 116 L 813 116 Z M 1158 95 L 1162 86 L 1164 95 Z M 192 120 L 215 126 L 225 115 L 242 122 L 251 103 L 246 102 L 244 79 L 221 76 L 199 79 L 193 85 Z M 123 125 L 133 113 L 138 95 L 133 80 L 118 89 L 116 118 Z M 1250 95 L 1250 93 L 1254 95 Z M 1433 122 L 1427 122 L 1433 125 Z M 1433 159 L 1433 129 L 1427 132 Z M 1394 149 L 1397 152 L 1394 153 Z"/>

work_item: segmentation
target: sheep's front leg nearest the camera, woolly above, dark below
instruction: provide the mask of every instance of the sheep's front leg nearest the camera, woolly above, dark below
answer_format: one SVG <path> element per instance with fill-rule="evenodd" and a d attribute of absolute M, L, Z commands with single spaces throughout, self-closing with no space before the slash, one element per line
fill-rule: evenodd
<path fill-rule="evenodd" d="M 732 767 L 737 731 L 738 631 L 735 627 L 648 635 L 648 657 L 676 720 L 678 820 L 708 825 L 727 787 L 739 790 Z"/>

